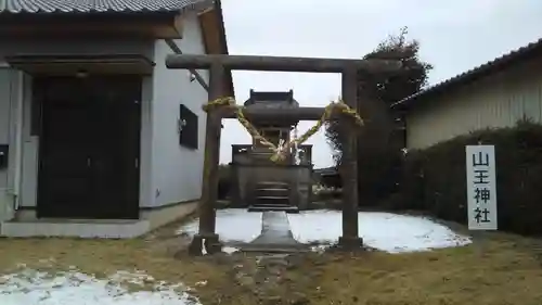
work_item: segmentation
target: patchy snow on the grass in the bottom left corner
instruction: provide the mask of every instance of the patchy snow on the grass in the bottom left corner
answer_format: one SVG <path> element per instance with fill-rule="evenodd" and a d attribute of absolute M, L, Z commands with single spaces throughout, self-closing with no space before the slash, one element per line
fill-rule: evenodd
<path fill-rule="evenodd" d="M 149 285 L 152 291 L 128 291 L 124 283 Z M 101 280 L 76 270 L 59 274 L 24 269 L 0 276 L 2 305 L 196 305 L 201 304 L 186 292 L 177 292 L 180 284 L 156 282 L 143 272 L 119 271 Z M 186 291 L 186 289 L 184 289 Z"/>

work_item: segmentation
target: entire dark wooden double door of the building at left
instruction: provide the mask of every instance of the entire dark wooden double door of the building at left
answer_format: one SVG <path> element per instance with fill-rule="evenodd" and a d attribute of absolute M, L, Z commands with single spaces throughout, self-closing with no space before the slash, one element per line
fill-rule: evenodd
<path fill-rule="evenodd" d="M 38 217 L 139 217 L 141 80 L 48 78 L 41 96 Z"/>

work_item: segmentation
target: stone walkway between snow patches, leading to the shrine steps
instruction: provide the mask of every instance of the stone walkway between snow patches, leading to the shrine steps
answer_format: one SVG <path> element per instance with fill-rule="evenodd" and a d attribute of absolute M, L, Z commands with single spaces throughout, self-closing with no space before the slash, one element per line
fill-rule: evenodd
<path fill-rule="evenodd" d="M 286 212 L 263 212 L 261 234 L 241 247 L 244 252 L 291 253 L 306 252 L 309 247 L 298 243 L 289 229 Z"/>

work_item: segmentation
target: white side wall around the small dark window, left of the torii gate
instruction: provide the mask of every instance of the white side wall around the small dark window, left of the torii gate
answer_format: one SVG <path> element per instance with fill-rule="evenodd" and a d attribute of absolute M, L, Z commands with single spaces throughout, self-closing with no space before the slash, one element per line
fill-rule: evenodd
<path fill-rule="evenodd" d="M 205 53 L 202 30 L 195 14 L 186 14 L 183 38 L 176 40 L 176 43 L 183 53 Z M 159 206 L 201 198 L 206 119 L 202 105 L 207 102 L 207 91 L 197 81 L 190 81 L 188 71 L 166 67 L 166 55 L 171 53 L 165 41 L 156 41 L 152 103 L 154 200 L 142 203 L 143 205 Z M 208 72 L 199 73 L 208 81 Z M 177 122 L 180 104 L 184 104 L 198 116 L 197 150 L 179 144 Z"/>

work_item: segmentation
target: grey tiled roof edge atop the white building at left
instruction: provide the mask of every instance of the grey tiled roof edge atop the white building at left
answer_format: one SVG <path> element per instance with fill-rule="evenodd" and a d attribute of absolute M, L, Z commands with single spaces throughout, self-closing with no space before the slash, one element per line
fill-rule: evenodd
<path fill-rule="evenodd" d="M 207 0 L 0 0 L 0 14 L 179 12 Z"/>

